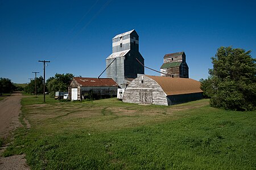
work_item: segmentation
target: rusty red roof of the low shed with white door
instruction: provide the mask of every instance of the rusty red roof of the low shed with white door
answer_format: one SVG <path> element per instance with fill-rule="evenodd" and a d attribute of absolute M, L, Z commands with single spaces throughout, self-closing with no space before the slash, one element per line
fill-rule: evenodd
<path fill-rule="evenodd" d="M 82 78 L 74 77 L 73 79 L 79 84 L 79 86 L 118 86 L 117 83 L 111 78 Z"/>

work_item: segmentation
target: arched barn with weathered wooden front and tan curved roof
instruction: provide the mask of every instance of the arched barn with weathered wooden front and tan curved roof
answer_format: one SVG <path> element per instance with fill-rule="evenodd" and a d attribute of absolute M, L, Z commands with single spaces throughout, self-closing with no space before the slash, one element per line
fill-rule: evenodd
<path fill-rule="evenodd" d="M 125 103 L 174 105 L 202 99 L 201 83 L 189 78 L 141 75 L 127 86 Z"/>

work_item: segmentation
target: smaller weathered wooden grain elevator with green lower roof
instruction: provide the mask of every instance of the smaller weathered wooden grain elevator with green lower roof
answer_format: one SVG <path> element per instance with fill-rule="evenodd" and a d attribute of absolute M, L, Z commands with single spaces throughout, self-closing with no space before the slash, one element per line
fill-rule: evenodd
<path fill-rule="evenodd" d="M 165 74 L 162 76 L 171 75 L 174 78 L 188 78 L 188 65 L 184 52 L 166 54 L 164 63 L 160 71 Z"/>

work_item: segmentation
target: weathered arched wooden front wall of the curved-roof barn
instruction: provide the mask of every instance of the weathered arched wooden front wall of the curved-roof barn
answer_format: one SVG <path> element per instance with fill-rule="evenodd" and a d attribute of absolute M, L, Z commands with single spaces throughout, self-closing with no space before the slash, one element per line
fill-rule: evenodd
<path fill-rule="evenodd" d="M 123 102 L 168 105 L 166 94 L 159 84 L 144 75 L 134 79 L 127 86 Z"/>

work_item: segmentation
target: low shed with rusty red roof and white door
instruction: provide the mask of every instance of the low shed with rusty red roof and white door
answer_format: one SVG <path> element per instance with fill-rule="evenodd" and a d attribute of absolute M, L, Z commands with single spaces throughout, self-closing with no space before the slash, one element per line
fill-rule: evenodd
<path fill-rule="evenodd" d="M 68 95 L 71 100 L 100 99 L 116 96 L 117 88 L 118 84 L 110 78 L 74 77 L 68 87 Z"/>

